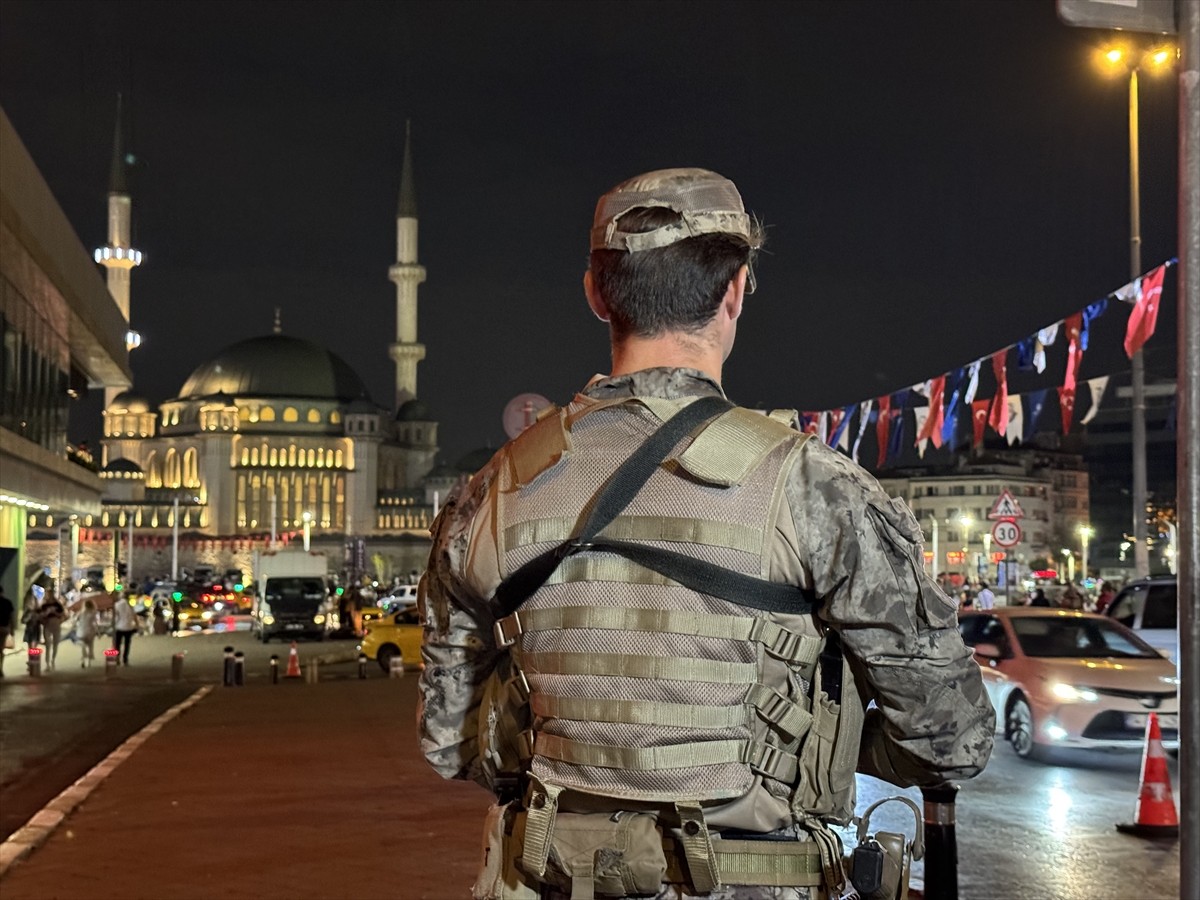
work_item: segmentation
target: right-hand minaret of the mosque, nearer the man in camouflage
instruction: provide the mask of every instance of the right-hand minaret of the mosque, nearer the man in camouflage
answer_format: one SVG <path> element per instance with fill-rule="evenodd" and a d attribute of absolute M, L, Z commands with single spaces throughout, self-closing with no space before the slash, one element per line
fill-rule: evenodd
<path fill-rule="evenodd" d="M 404 124 L 404 162 L 400 174 L 396 209 L 396 264 L 388 277 L 396 282 L 396 343 L 389 348 L 396 362 L 396 408 L 416 396 L 416 364 L 425 359 L 425 344 L 416 340 L 416 288 L 425 281 L 425 266 L 416 262 L 416 190 L 413 186 L 413 128 Z"/>

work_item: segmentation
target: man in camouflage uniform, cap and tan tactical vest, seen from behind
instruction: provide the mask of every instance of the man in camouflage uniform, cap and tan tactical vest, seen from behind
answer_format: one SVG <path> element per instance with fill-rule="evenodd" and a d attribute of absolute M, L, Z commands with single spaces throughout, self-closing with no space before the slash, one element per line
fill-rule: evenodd
<path fill-rule="evenodd" d="M 600 198 L 612 372 L 442 511 L 420 727 L 497 800 L 476 898 L 853 896 L 854 773 L 979 773 L 995 714 L 910 510 L 733 406 L 762 229 L 704 169 Z"/>

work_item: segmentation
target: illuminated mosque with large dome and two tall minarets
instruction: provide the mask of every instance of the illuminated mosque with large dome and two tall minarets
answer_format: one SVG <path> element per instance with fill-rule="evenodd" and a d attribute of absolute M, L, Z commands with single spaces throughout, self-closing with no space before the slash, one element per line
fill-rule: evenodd
<path fill-rule="evenodd" d="M 125 166 L 119 120 L 109 240 L 95 259 L 128 323 L 130 276 L 142 254 L 130 244 Z M 220 350 L 157 407 L 133 390 L 108 390 L 101 512 L 78 522 L 76 570 L 103 566 L 115 575 L 125 560 L 136 577 L 158 575 L 178 546 L 174 562 L 184 568 L 248 571 L 253 550 L 301 536 L 326 550 L 332 568 L 355 553 L 358 568 L 379 578 L 421 568 L 439 500 L 462 473 L 434 467 L 438 422 L 416 390 L 425 358 L 418 288 L 426 272 L 418 262 L 410 131 L 388 275 L 396 286 L 391 408 L 377 406 L 340 356 L 283 334 L 277 308 L 272 334 Z M 139 343 L 132 329 L 126 343 L 130 350 Z"/>

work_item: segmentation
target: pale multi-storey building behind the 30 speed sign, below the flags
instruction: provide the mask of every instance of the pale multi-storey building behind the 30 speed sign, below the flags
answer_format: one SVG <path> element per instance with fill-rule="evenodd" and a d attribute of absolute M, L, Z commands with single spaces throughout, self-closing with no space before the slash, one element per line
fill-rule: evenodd
<path fill-rule="evenodd" d="M 1007 491 L 1022 516 L 1021 534 L 1008 550 L 1024 574 L 1038 559 L 1076 554 L 1080 526 L 1088 523 L 1087 468 L 1075 454 L 1021 448 L 986 450 L 940 467 L 882 473 L 880 484 L 912 509 L 925 541 L 925 562 L 936 572 L 995 582 L 1004 550 L 991 536 L 989 514 Z M 937 559 L 934 559 L 934 546 Z"/>

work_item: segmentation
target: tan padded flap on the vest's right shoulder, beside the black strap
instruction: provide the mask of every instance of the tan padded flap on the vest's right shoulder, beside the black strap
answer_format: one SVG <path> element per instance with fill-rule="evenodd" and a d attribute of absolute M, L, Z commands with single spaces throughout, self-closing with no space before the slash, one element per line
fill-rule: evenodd
<path fill-rule="evenodd" d="M 678 462 L 701 481 L 730 487 L 742 484 L 785 440 L 803 443 L 806 437 L 774 418 L 738 407 L 714 419 Z"/>

